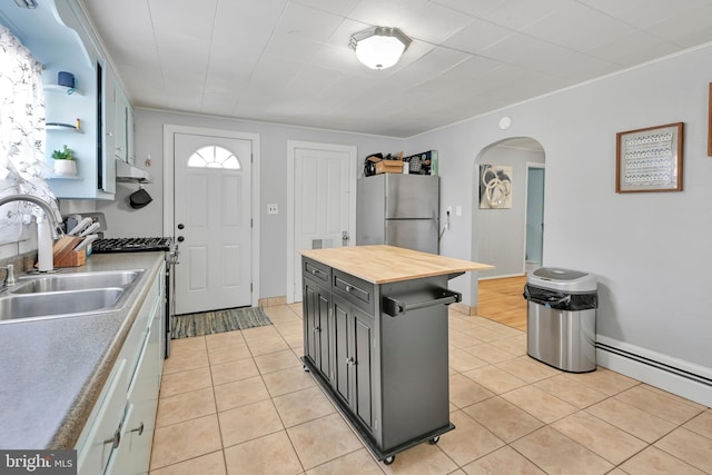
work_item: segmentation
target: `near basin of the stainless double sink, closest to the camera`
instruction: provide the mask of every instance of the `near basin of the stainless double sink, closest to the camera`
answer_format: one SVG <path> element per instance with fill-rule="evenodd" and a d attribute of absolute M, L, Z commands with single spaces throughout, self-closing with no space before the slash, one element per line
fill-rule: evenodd
<path fill-rule="evenodd" d="M 120 308 L 126 289 L 120 287 L 44 294 L 10 294 L 0 297 L 0 324 L 44 319 Z"/>

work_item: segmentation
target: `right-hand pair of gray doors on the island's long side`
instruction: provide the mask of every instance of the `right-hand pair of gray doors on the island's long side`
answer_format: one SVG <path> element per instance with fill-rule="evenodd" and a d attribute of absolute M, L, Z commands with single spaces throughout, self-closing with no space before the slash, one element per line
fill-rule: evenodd
<path fill-rule="evenodd" d="M 374 318 L 334 296 L 334 388 L 368 428 L 373 428 Z"/>

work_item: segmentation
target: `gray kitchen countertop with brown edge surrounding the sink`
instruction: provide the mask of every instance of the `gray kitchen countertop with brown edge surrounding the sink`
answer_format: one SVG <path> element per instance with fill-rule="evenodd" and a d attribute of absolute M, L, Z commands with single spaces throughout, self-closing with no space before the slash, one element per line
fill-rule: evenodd
<path fill-rule="evenodd" d="M 165 253 L 89 256 L 60 274 L 146 269 L 122 309 L 0 324 L 0 448 L 75 448 L 164 261 Z"/>

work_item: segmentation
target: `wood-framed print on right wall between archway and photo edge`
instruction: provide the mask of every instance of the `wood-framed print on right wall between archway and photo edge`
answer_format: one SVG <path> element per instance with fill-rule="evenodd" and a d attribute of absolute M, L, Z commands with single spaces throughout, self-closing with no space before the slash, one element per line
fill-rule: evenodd
<path fill-rule="evenodd" d="M 616 133 L 615 192 L 682 191 L 683 126 Z"/>

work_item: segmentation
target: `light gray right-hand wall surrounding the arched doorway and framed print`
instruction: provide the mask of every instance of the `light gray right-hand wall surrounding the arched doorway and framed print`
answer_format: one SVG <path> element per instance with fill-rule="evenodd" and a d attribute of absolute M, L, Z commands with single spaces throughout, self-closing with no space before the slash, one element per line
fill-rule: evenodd
<path fill-rule="evenodd" d="M 712 157 L 706 155 L 712 46 L 414 137 L 437 149 L 442 200 L 463 217 L 442 253 L 478 259 L 475 160 L 507 137 L 546 154 L 544 265 L 599 276 L 597 333 L 712 368 Z M 502 116 L 512 118 L 506 131 Z M 685 122 L 682 192 L 615 194 L 615 133 Z M 473 280 L 458 278 L 476 304 Z"/>

